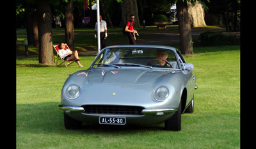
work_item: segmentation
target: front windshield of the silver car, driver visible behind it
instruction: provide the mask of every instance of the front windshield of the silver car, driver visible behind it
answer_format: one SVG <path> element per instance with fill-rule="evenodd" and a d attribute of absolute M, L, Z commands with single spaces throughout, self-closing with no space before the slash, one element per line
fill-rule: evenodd
<path fill-rule="evenodd" d="M 173 51 L 156 48 L 105 49 L 92 67 L 147 66 L 179 69 Z"/>

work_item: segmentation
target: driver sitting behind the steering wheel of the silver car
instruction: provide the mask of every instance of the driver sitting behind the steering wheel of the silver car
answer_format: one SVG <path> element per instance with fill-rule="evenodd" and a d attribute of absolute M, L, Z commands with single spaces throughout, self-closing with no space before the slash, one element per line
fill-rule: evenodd
<path fill-rule="evenodd" d="M 168 58 L 168 51 L 157 50 L 156 59 L 153 59 L 148 63 L 152 62 L 151 63 L 152 66 L 178 68 L 176 61 L 167 61 L 167 58 Z"/>

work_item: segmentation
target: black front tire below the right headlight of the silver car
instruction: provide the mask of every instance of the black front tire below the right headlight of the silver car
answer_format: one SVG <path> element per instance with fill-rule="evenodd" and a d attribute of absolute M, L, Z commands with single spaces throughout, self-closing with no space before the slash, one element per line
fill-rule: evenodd
<path fill-rule="evenodd" d="M 164 123 L 165 130 L 180 131 L 181 130 L 181 100 L 178 111 L 176 111 L 166 122 Z"/>

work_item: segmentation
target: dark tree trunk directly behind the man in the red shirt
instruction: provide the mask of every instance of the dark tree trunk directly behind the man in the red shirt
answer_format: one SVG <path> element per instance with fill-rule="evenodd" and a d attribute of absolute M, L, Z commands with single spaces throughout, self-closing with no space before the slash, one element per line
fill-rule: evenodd
<path fill-rule="evenodd" d="M 129 20 L 130 15 L 135 15 L 134 26 L 140 27 L 140 20 L 138 15 L 138 7 L 136 0 L 123 0 L 121 3 L 122 21 L 120 26 L 123 27 Z"/>

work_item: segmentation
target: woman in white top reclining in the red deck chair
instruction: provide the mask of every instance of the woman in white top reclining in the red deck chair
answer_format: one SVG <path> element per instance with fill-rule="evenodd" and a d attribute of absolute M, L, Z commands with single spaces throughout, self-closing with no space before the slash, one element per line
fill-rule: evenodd
<path fill-rule="evenodd" d="M 83 67 L 83 65 L 81 65 L 81 63 L 79 62 L 79 56 L 77 51 L 74 51 L 73 53 L 69 49 L 65 49 L 65 43 L 63 42 L 60 43 L 59 48 L 60 50 L 58 52 L 62 59 L 64 59 L 65 61 L 76 61 L 79 67 Z"/>

